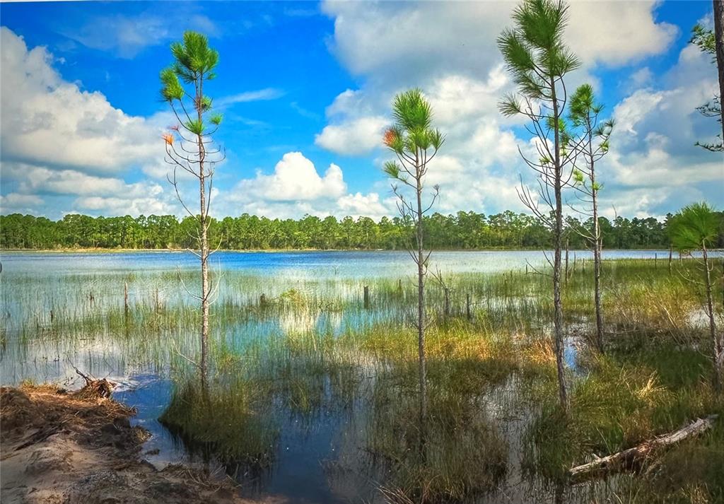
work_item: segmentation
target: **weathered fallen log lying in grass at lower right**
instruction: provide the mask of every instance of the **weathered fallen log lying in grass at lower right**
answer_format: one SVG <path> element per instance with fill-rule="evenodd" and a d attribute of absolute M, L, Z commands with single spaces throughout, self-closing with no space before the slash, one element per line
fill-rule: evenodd
<path fill-rule="evenodd" d="M 696 436 L 710 429 L 714 425 L 715 419 L 717 419 L 717 415 L 710 415 L 704 419 L 696 419 L 691 422 L 691 424 L 677 431 L 643 442 L 641 445 L 628 448 L 628 450 L 623 450 L 613 455 L 596 458 L 596 460 L 584 463 L 581 466 L 575 466 L 568 471 L 568 475 L 571 476 L 571 479 L 575 483 L 615 471 L 631 471 L 640 467 L 641 463 L 649 458 L 649 455 L 653 455 L 654 451 L 675 445 L 687 437 Z"/>

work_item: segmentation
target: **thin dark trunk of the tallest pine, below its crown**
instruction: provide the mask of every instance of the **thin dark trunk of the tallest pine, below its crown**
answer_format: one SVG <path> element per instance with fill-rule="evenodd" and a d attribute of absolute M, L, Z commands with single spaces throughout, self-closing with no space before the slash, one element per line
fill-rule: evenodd
<path fill-rule="evenodd" d="M 565 390 L 565 366 L 563 363 L 563 302 L 560 299 L 560 251 L 563 248 L 563 201 L 561 198 L 563 173 L 560 166 L 560 131 L 558 122 L 560 112 L 555 95 L 555 80 L 551 77 L 550 86 L 553 102 L 554 148 L 555 148 L 555 230 L 553 232 L 555 253 L 553 255 L 553 339 L 555 343 L 555 363 L 558 372 L 558 398 L 560 406 L 568 412 L 568 393 Z"/>

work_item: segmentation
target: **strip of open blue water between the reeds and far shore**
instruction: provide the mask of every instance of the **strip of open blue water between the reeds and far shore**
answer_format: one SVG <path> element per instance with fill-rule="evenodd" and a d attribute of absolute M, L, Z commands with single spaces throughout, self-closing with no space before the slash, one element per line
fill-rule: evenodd
<path fill-rule="evenodd" d="M 548 252 L 550 256 L 550 251 Z M 669 251 L 603 251 L 604 259 L 668 259 Z M 570 251 L 569 260 L 591 259 L 590 251 Z M 188 252 L 2 252 L 3 275 L 32 273 L 53 275 L 95 272 L 172 271 L 193 269 L 198 259 Z M 439 251 L 432 253 L 431 269 L 448 273 L 501 272 L 525 269 L 526 261 L 544 264 L 542 251 Z M 211 256 L 222 270 L 288 275 L 290 278 L 397 277 L 413 274 L 406 251 L 229 252 Z"/>

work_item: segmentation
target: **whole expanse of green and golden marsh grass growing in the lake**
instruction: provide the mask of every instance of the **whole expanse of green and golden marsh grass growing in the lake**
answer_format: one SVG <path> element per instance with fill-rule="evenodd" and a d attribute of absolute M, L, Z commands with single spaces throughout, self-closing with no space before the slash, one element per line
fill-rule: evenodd
<path fill-rule="evenodd" d="M 568 340 L 582 342 L 569 377 L 568 418 L 554 400 L 550 278 L 522 271 L 447 275 L 447 316 L 442 288 L 429 282 L 425 429 L 418 421 L 417 350 L 409 324 L 415 293 L 404 278 L 224 273 L 211 310 L 214 379 L 204 397 L 188 361 L 197 353 L 198 306 L 181 286 L 195 288 L 192 272 L 4 277 L 13 289 L 1 293 L 3 364 L 12 366 L 11 377 L 52 368 L 52 362 L 62 373 L 66 361 L 95 374 L 171 376 L 164 424 L 206 458 L 252 472 L 273 468 L 289 419 L 313 426 L 324 416 L 348 416 L 361 426 L 350 450 L 365 460 L 363 470 L 387 498 L 470 500 L 515 472 L 515 450 L 526 481 L 559 484 L 573 463 L 593 454 L 628 448 L 696 416 L 724 413 L 710 386 L 703 324 L 692 316 L 701 308 L 698 287 L 687 281 L 696 274 L 694 261 L 676 263 L 672 274 L 661 261 L 657 268 L 652 261 L 604 262 L 606 356 L 585 345 L 593 334 L 591 273 L 590 266 L 571 271 L 564 290 Z M 363 306 L 365 285 L 369 308 Z M 721 306 L 720 297 L 715 304 Z M 511 411 L 501 412 L 496 394 L 508 389 L 505 408 Z M 521 418 L 522 434 L 507 432 L 513 416 Z M 621 492 L 640 499 L 684 489 L 681 502 L 697 495 L 715 502 L 721 495 L 712 479 L 721 466 L 720 427 L 702 440 L 662 459 L 657 474 L 667 474 L 661 481 L 668 483 L 622 476 Z M 690 464 L 699 474 L 693 487 L 682 482 L 676 463 L 689 454 L 712 459 Z M 650 502 L 665 501 L 656 498 Z"/>

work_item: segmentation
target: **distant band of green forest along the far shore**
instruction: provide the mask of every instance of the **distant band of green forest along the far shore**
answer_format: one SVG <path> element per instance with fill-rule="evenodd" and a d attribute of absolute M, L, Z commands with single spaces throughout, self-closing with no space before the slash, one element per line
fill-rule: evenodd
<path fill-rule="evenodd" d="M 664 222 L 646 219 L 602 218 L 605 248 L 668 248 L 667 216 Z M 720 212 L 724 223 L 724 212 Z M 577 232 L 590 222 L 568 217 L 565 225 L 571 248 L 587 248 Z M 724 226 L 723 226 L 724 227 Z M 172 215 L 90 217 L 69 214 L 58 221 L 32 215 L 0 216 L 0 248 L 193 248 L 198 227 L 192 217 Z M 265 249 L 386 249 L 407 246 L 411 225 L 399 217 L 306 216 L 302 219 L 241 217 L 212 219 L 214 248 Z M 550 230 L 535 217 L 504 211 L 484 215 L 473 211 L 432 214 L 425 217 L 426 246 L 435 249 L 545 248 L 552 245 Z M 720 232 L 719 246 L 724 246 Z"/>

